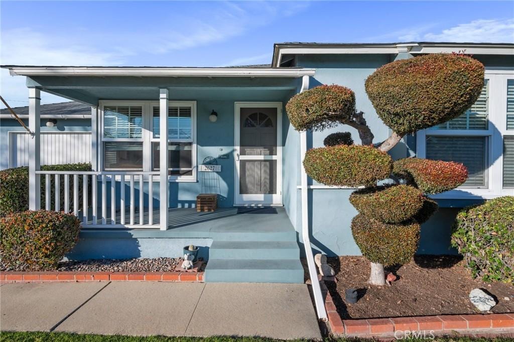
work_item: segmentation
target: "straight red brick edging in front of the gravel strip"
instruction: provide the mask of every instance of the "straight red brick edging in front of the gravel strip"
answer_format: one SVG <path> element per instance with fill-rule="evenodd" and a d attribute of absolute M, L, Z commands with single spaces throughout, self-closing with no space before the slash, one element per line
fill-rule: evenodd
<path fill-rule="evenodd" d="M 204 281 L 204 272 L 0 272 L 0 283 L 83 281 Z"/>

